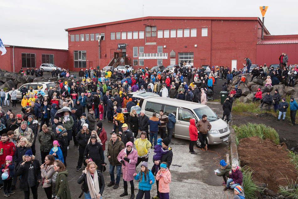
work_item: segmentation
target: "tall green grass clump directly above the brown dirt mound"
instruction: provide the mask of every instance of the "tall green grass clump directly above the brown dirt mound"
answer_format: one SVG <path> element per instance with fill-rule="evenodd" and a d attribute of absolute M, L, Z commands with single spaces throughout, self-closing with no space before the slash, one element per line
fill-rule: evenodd
<path fill-rule="evenodd" d="M 235 130 L 235 135 L 238 140 L 241 140 L 242 138 L 246 138 L 246 137 L 258 136 L 263 140 L 270 139 L 276 145 L 279 144 L 278 133 L 270 126 L 266 126 L 264 124 L 247 123 L 247 124 L 241 124 L 239 127 L 237 127 L 236 125 L 233 125 L 232 127 Z M 237 144 L 237 141 L 236 141 L 236 144 Z"/>

